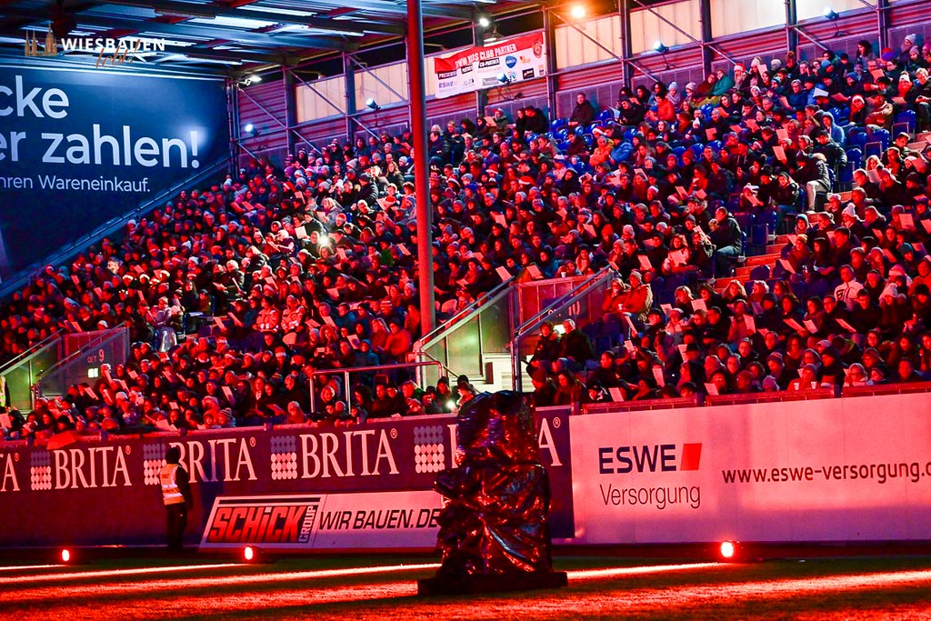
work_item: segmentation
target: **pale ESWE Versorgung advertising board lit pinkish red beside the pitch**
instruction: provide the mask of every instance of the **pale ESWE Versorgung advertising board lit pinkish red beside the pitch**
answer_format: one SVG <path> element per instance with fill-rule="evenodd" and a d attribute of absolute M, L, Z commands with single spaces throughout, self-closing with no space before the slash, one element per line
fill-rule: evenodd
<path fill-rule="evenodd" d="M 574 416 L 578 543 L 927 539 L 924 394 Z M 897 412 L 877 416 L 876 412 Z"/>

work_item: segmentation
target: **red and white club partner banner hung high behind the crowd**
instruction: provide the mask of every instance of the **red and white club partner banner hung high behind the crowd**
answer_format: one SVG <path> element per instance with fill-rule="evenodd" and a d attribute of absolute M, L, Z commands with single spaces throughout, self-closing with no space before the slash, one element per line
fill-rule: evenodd
<path fill-rule="evenodd" d="M 433 88 L 438 99 L 452 97 L 480 88 L 501 86 L 502 73 L 510 83 L 530 80 L 545 74 L 546 46 L 542 33 L 523 34 L 486 47 L 469 47 L 434 60 Z M 534 68 L 539 67 L 534 73 Z M 457 73 L 458 71 L 458 73 Z M 466 81 L 464 74 L 478 79 Z"/>

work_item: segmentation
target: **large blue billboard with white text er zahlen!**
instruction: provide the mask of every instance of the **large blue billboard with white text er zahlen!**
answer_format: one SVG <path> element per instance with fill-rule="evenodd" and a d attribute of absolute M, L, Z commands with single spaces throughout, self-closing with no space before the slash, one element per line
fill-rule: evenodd
<path fill-rule="evenodd" d="M 223 80 L 0 66 L 0 276 L 227 153 Z"/>

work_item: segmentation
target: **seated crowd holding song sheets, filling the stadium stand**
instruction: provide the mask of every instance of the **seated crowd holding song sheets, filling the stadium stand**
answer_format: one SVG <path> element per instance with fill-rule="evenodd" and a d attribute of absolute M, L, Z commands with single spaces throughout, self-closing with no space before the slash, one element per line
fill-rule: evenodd
<path fill-rule="evenodd" d="M 512 277 L 614 269 L 599 321 L 544 325 L 538 405 L 924 380 L 929 66 L 909 35 L 622 88 L 602 110 L 579 93 L 565 119 L 434 126 L 439 318 Z M 4 360 L 55 331 L 126 325 L 133 345 L 7 437 L 454 410 L 466 377 L 422 391 L 404 371 L 318 373 L 408 361 L 422 336 L 411 158 L 405 131 L 252 162 L 48 266 L 3 304 Z M 779 261 L 715 289 L 776 233 Z"/>

